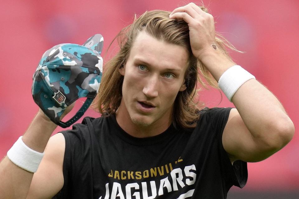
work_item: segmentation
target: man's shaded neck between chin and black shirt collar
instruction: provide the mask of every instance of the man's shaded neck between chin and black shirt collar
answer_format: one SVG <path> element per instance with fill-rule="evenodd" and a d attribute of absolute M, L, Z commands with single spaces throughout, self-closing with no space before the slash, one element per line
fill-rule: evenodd
<path fill-rule="evenodd" d="M 152 137 L 166 131 L 171 125 L 172 114 L 169 114 L 169 117 L 162 117 L 150 125 L 139 125 L 132 121 L 125 104 L 121 101 L 121 105 L 116 111 L 116 121 L 126 133 L 133 137 Z"/>

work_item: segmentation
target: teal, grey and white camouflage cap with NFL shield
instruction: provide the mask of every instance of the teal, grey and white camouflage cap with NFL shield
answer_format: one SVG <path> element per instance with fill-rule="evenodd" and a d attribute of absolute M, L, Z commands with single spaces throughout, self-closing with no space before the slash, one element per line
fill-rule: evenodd
<path fill-rule="evenodd" d="M 47 50 L 33 75 L 32 96 L 35 103 L 52 122 L 69 127 L 83 116 L 97 95 L 103 59 L 103 37 L 89 38 L 83 45 L 58 44 Z M 60 121 L 65 109 L 79 98 L 83 106 L 67 122 Z"/>

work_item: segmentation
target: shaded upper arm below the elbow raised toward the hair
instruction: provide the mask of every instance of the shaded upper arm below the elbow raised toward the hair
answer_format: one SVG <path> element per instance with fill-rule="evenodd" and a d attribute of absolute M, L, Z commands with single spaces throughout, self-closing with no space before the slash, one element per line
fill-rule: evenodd
<path fill-rule="evenodd" d="M 273 154 L 265 143 L 252 136 L 237 109 L 230 111 L 222 135 L 222 144 L 232 162 L 235 160 L 258 162 Z"/>

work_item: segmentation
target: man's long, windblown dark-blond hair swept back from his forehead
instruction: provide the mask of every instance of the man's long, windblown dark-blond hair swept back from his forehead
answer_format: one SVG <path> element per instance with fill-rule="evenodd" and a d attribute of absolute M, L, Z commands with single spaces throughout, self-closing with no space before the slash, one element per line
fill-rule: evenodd
<path fill-rule="evenodd" d="M 200 6 L 200 8 L 207 12 L 206 7 Z M 94 104 L 94 107 L 98 109 L 103 116 L 109 116 L 115 113 L 120 106 L 123 76 L 119 73 L 118 69 L 123 67 L 126 63 L 137 34 L 140 31 L 146 31 L 147 34 L 158 40 L 163 40 L 170 44 L 177 44 L 188 50 L 189 67 L 185 77 L 187 89 L 178 92 L 174 102 L 172 118 L 175 126 L 183 128 L 196 126 L 196 121 L 199 118 L 199 110 L 203 108 L 198 105 L 197 102 L 194 102 L 197 92 L 197 83 L 199 82 L 203 87 L 206 87 L 206 84 L 208 84 L 215 88 L 218 87 L 218 84 L 202 62 L 193 56 L 189 40 L 188 24 L 184 21 L 170 19 L 169 14 L 170 12 L 168 11 L 153 10 L 146 11 L 139 17 L 135 15 L 133 23 L 123 28 L 113 39 L 113 41 L 115 39 L 118 40 L 120 50 L 105 64 L 101 86 Z M 217 47 L 220 48 L 229 59 L 230 56 L 225 47 L 238 51 L 217 32 L 215 41 Z M 203 78 L 206 80 L 206 83 Z"/>

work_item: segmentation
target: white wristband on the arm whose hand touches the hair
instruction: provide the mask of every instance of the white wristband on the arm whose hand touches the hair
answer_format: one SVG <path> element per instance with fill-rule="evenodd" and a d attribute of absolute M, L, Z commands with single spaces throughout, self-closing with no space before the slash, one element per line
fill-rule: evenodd
<path fill-rule="evenodd" d="M 239 65 L 227 69 L 219 78 L 218 85 L 231 101 L 235 92 L 248 80 L 255 77 Z"/>

